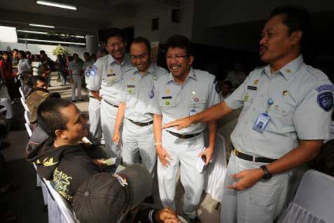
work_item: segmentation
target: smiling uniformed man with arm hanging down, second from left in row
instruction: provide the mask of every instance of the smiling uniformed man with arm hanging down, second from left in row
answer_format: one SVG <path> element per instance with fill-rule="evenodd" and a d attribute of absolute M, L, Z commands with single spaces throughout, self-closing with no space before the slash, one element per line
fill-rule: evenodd
<path fill-rule="evenodd" d="M 153 174 L 157 160 L 153 136 L 153 115 L 148 113 L 148 101 L 152 97 L 153 83 L 167 74 L 167 70 L 151 63 L 151 45 L 148 39 L 137 37 L 130 47 L 134 68 L 123 76 L 120 104 L 113 133 L 113 141 L 120 142 L 122 133 L 123 161 L 131 165 L 139 161 L 139 155 L 146 168 Z"/>

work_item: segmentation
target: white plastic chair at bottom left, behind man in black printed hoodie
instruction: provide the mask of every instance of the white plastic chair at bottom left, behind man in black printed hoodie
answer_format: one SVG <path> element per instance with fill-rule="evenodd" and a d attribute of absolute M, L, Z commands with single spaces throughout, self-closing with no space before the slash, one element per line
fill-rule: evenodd
<path fill-rule="evenodd" d="M 51 210 L 49 215 L 52 214 L 53 216 L 58 215 L 59 218 L 57 219 L 57 222 L 76 223 L 76 220 L 74 219 L 74 215 L 72 213 L 71 205 L 69 205 L 69 203 L 67 203 L 67 201 L 65 201 L 65 199 L 55 189 L 53 189 L 52 185 L 50 184 L 50 181 L 43 178 L 43 182 L 46 184 L 46 187 L 48 188 L 51 198 L 53 198 L 53 201 L 57 203 L 57 206 L 62 214 L 62 215 L 57 214 L 57 210 L 54 209 Z"/>

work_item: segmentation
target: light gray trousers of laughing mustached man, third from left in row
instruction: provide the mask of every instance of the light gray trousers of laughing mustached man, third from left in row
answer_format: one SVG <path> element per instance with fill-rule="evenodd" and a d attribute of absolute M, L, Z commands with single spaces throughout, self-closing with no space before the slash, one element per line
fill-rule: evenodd
<path fill-rule="evenodd" d="M 197 155 L 204 147 L 203 134 L 190 139 L 179 139 L 162 130 L 162 147 L 172 160 L 165 167 L 158 161 L 158 183 L 162 205 L 176 210 L 175 189 L 177 173 L 180 168 L 181 184 L 184 188 L 183 212 L 191 218 L 196 216 L 196 208 L 200 203 L 203 190 L 204 172 L 196 169 Z"/>

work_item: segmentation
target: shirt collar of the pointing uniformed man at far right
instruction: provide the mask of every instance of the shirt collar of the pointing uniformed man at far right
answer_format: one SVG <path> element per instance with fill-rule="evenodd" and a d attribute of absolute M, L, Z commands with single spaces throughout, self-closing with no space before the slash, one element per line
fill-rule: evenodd
<path fill-rule="evenodd" d="M 279 72 L 286 81 L 289 81 L 293 74 L 298 71 L 298 69 L 304 64 L 304 60 L 302 59 L 302 55 L 300 54 L 298 58 L 289 62 L 287 65 L 279 69 Z M 263 73 L 267 74 L 267 76 L 271 76 L 270 65 L 265 66 L 263 69 Z"/>

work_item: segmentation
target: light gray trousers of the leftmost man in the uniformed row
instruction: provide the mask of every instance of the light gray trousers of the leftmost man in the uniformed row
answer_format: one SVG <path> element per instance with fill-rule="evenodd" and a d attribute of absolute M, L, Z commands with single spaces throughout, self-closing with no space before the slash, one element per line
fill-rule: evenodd
<path fill-rule="evenodd" d="M 115 130 L 117 108 L 111 106 L 104 100 L 101 101 L 100 111 L 101 111 L 101 125 L 102 133 L 104 135 L 106 153 L 108 157 L 122 157 L 121 145 L 113 142 L 113 132 Z M 122 128 L 120 127 L 120 134 L 122 134 Z"/>

